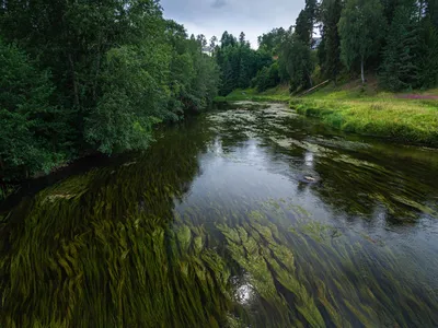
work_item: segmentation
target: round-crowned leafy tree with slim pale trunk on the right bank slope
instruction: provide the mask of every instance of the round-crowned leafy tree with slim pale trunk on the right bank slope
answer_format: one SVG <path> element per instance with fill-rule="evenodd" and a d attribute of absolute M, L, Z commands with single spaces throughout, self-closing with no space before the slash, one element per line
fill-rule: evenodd
<path fill-rule="evenodd" d="M 365 63 L 379 51 L 385 26 L 379 0 L 346 1 L 338 24 L 342 59 L 348 69 L 360 62 L 362 83 L 366 82 Z"/>

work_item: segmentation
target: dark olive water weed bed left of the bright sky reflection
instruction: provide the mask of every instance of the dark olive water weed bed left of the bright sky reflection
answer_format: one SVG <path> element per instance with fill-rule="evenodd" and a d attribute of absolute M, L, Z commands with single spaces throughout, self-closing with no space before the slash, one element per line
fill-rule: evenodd
<path fill-rule="evenodd" d="M 197 173 L 196 142 L 173 141 L 180 161 L 160 149 L 158 162 L 72 177 L 14 209 L 0 230 L 0 325 L 221 326 L 231 309 L 223 259 L 199 230 L 169 229 Z"/>

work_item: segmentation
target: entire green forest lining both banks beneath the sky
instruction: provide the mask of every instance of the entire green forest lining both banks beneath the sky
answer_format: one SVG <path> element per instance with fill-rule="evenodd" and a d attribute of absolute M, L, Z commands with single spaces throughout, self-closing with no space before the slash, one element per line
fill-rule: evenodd
<path fill-rule="evenodd" d="M 243 32 L 188 36 L 157 0 L 0 0 L 0 180 L 146 149 L 155 125 L 235 89 L 370 71 L 392 92 L 433 87 L 437 54 L 437 0 L 306 0 L 256 50 Z"/>

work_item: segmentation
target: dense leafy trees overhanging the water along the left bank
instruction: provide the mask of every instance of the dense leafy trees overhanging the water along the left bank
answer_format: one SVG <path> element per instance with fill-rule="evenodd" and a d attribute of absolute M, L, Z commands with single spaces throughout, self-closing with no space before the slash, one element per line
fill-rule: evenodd
<path fill-rule="evenodd" d="M 142 149 L 218 85 L 199 37 L 155 0 L 0 0 L 0 181 Z"/>

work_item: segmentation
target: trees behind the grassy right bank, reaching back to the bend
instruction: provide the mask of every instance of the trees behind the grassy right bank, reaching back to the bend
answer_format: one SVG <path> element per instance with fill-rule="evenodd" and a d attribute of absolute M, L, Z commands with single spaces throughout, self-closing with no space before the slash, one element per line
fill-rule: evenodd
<path fill-rule="evenodd" d="M 369 71 L 390 91 L 433 87 L 438 84 L 438 0 L 306 0 L 295 25 L 260 36 L 258 50 L 247 46 L 239 52 L 242 47 L 229 42 L 228 33 L 216 46 L 222 94 L 279 83 L 299 92 L 346 74 L 360 74 L 365 83 Z M 258 67 L 246 66 L 253 58 Z"/>

